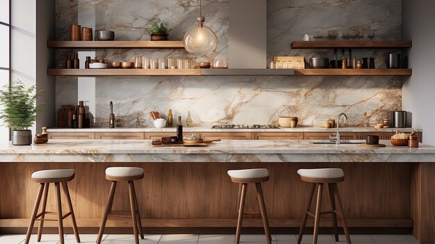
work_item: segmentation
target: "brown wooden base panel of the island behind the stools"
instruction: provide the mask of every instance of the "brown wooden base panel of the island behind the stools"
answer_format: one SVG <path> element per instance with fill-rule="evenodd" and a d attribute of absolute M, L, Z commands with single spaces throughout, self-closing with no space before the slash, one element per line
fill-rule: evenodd
<path fill-rule="evenodd" d="M 238 188 L 227 170 L 242 168 L 268 168 L 270 180 L 262 186 L 272 232 L 295 233 L 310 189 L 297 169 L 342 168 L 345 181 L 338 188 L 351 234 L 412 231 L 422 243 L 435 242 L 435 163 L 0 163 L 0 233 L 25 233 L 38 193 L 31 173 L 59 168 L 76 169 L 69 191 L 80 233 L 97 233 L 110 190 L 104 170 L 112 166 L 144 168 L 145 178 L 135 186 L 147 233 L 234 233 Z M 247 212 L 258 211 L 254 190 L 247 189 Z M 108 233 L 131 233 L 128 194 L 127 184 L 119 184 L 113 213 L 120 216 L 109 218 Z M 49 197 L 48 211 L 56 209 L 54 201 Z M 243 225 L 246 232 L 263 232 L 260 219 Z M 57 233 L 56 222 L 44 226 Z M 320 227 L 332 231 L 327 219 Z"/>

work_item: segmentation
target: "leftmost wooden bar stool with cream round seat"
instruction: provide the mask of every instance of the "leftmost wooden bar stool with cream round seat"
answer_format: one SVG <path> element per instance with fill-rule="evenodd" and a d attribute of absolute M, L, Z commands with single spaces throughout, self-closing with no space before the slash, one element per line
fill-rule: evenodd
<path fill-rule="evenodd" d="M 28 224 L 27 234 L 26 234 L 26 240 L 24 241 L 25 244 L 28 244 L 28 241 L 30 241 L 30 237 L 32 234 L 33 225 L 35 224 L 35 220 L 39 220 L 40 224 L 38 227 L 38 237 L 37 241 L 41 241 L 42 236 L 42 228 L 44 227 L 44 220 L 45 221 L 56 221 L 56 219 L 47 219 L 45 218 L 45 214 L 54 213 L 54 212 L 48 212 L 45 211 L 45 207 L 47 206 L 47 195 L 49 193 L 49 186 L 50 183 L 54 183 L 54 187 L 56 188 L 56 198 L 58 203 L 58 227 L 59 227 L 59 241 L 60 244 L 63 244 L 63 219 L 67 218 L 69 215 L 71 215 L 72 218 L 72 229 L 74 231 L 74 235 L 76 236 L 77 243 L 80 243 L 80 237 L 79 237 L 79 231 L 77 229 L 77 223 L 76 223 L 76 217 L 74 215 L 74 211 L 72 210 L 72 203 L 71 203 L 71 197 L 69 197 L 69 190 L 67 182 L 74 179 L 74 169 L 69 170 L 40 170 L 33 172 L 31 178 L 32 181 L 38 182 L 40 184 L 40 189 L 38 191 L 38 197 L 36 197 L 35 206 L 33 207 L 33 212 L 31 215 L 30 223 Z M 67 204 L 69 206 L 69 212 L 65 215 L 62 215 L 62 202 L 60 200 L 60 184 L 62 185 L 63 192 L 65 193 L 67 197 Z M 42 193 L 43 192 L 43 193 Z M 41 213 L 38 213 L 38 209 L 40 206 L 42 197 L 42 211 Z"/>

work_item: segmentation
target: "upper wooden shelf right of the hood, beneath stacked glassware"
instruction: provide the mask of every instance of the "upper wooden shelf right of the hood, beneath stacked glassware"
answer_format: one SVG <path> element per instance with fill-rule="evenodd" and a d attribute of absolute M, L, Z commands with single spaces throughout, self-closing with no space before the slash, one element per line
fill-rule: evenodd
<path fill-rule="evenodd" d="M 292 49 L 397 49 L 412 47 L 412 41 L 294 41 L 291 44 Z"/>

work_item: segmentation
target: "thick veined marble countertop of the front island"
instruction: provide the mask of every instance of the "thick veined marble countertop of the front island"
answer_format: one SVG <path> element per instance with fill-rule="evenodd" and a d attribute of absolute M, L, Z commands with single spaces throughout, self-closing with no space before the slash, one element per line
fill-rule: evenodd
<path fill-rule="evenodd" d="M 320 145 L 313 140 L 222 140 L 208 147 L 153 147 L 151 140 L 49 140 L 47 144 L 0 144 L 0 161 L 51 162 L 435 162 L 435 147 L 367 148 Z M 354 141 L 356 142 L 356 141 Z M 362 142 L 362 141 L 360 141 Z"/>

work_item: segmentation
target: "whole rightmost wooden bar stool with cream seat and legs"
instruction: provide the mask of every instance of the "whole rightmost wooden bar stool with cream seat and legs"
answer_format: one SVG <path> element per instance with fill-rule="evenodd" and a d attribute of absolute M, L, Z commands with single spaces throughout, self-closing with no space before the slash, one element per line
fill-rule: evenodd
<path fill-rule="evenodd" d="M 308 218 L 308 215 L 314 218 L 313 244 L 317 243 L 320 215 L 322 214 L 332 214 L 332 222 L 334 225 L 334 236 L 336 241 L 338 241 L 337 214 L 340 215 L 341 222 L 343 223 L 343 229 L 345 231 L 347 244 L 351 244 L 349 230 L 347 229 L 345 213 L 343 211 L 343 204 L 341 203 L 340 194 L 338 193 L 338 187 L 337 187 L 337 183 L 344 181 L 345 179 L 345 174 L 343 170 L 341 170 L 340 168 L 300 169 L 297 170 L 297 174 L 300 175 L 302 181 L 313 183 L 309 201 L 306 206 L 304 218 L 302 220 L 301 229 L 299 230 L 297 244 L 300 244 L 302 241 L 302 235 L 304 234 L 306 218 Z M 321 211 L 323 184 L 327 184 L 328 186 L 331 211 L 326 211 L 326 212 Z M 317 204 L 315 205 L 315 214 L 313 214 L 310 212 L 310 208 L 311 208 L 311 201 L 313 200 L 315 186 L 318 186 L 318 193 L 317 193 Z M 336 204 L 338 207 L 338 211 L 336 210 Z"/>

